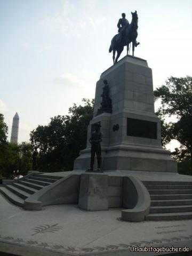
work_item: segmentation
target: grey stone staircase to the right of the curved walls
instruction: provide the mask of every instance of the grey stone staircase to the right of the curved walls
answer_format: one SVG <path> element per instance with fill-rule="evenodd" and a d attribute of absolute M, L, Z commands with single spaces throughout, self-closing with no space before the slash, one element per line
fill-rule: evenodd
<path fill-rule="evenodd" d="M 143 181 L 150 198 L 146 220 L 192 219 L 192 182 Z"/>

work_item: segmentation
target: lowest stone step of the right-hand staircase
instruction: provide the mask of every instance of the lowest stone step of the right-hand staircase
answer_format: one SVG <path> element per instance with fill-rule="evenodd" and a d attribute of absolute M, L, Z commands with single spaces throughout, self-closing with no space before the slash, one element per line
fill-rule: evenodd
<path fill-rule="evenodd" d="M 192 219 L 192 212 L 150 213 L 145 220 L 187 220 Z"/>

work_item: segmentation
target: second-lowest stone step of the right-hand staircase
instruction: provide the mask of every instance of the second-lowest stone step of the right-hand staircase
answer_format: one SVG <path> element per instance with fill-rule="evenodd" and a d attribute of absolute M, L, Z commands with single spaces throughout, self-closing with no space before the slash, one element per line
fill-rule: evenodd
<path fill-rule="evenodd" d="M 191 212 L 192 205 L 152 206 L 150 213 Z"/>

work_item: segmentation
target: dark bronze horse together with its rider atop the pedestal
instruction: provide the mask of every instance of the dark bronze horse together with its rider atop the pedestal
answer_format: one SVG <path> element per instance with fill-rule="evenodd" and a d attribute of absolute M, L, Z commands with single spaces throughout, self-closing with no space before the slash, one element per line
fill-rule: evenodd
<path fill-rule="evenodd" d="M 111 45 L 109 47 L 109 52 L 113 51 L 113 61 L 114 64 L 117 63 L 119 56 L 121 55 L 124 46 L 127 46 L 127 55 L 129 52 L 129 45 L 132 43 L 132 55 L 134 56 L 134 47 L 139 45 L 139 42 L 136 41 L 138 36 L 138 15 L 137 11 L 131 12 L 132 21 L 129 21 L 125 18 L 125 13 L 122 13 L 122 18 L 119 19 L 117 23 L 118 34 L 113 37 L 111 40 Z M 117 56 L 115 58 L 115 52 Z"/>

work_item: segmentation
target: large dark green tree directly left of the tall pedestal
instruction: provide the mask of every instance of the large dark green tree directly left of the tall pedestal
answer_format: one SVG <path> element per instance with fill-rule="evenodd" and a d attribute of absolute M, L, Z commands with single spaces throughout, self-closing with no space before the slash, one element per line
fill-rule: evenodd
<path fill-rule="evenodd" d="M 73 170 L 79 151 L 86 147 L 87 125 L 93 117 L 93 100 L 69 108 L 69 115 L 55 116 L 48 125 L 39 125 L 30 133 L 30 141 L 38 148 L 39 170 Z"/>

